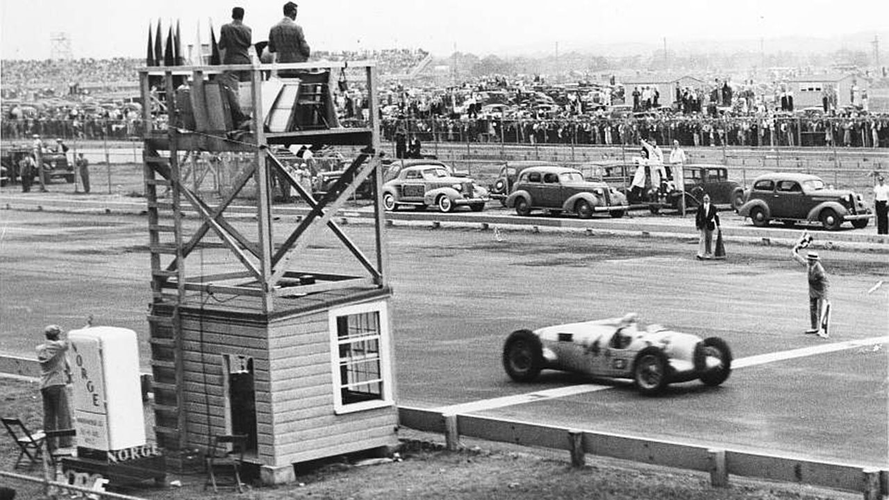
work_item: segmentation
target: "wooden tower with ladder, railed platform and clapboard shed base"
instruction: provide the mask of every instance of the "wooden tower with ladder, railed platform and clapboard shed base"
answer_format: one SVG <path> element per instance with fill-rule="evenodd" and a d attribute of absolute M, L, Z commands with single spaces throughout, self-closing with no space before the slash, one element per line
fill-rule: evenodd
<path fill-rule="evenodd" d="M 303 119 L 330 116 L 334 78 L 344 68 L 340 62 L 313 62 L 140 69 L 155 433 L 170 456 L 209 448 L 214 436 L 247 434 L 247 460 L 260 465 L 265 482 L 278 483 L 292 480 L 292 464 L 396 444 L 374 64 L 348 63 L 353 73 L 365 75 L 367 126 L 340 127 L 335 115 Z M 296 76 L 263 79 L 282 69 Z M 226 91 L 216 83 L 227 72 L 250 75 L 235 94 L 244 102 L 249 93 L 249 130 L 225 130 L 229 127 L 208 116 L 218 116 L 220 109 L 228 114 Z M 151 104 L 158 87 L 165 94 L 165 127 L 152 125 L 163 123 Z M 278 120 L 282 112 L 289 118 Z M 276 127 L 269 126 L 273 121 Z M 276 157 L 276 148 L 293 144 L 361 149 L 316 199 Z M 181 177 L 180 157 L 196 151 L 239 153 L 252 162 L 226 196 L 208 199 Z M 310 207 L 278 243 L 273 175 Z M 334 220 L 364 181 L 378 195 L 371 256 Z M 255 185 L 255 230 L 227 217 L 248 184 Z M 197 214 L 196 223 L 184 220 L 186 206 Z M 325 228 L 364 274 L 293 269 Z M 240 269 L 202 274 L 203 262 L 192 263 L 200 254 L 196 250 L 208 243 L 218 248 L 219 242 Z M 210 295 L 217 300 L 207 301 Z"/>

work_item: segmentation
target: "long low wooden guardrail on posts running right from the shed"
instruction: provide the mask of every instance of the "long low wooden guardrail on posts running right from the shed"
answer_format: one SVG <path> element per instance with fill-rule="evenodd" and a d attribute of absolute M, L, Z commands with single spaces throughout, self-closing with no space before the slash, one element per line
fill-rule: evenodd
<path fill-rule="evenodd" d="M 737 475 L 861 492 L 865 500 L 879 500 L 889 495 L 889 471 L 854 464 L 708 448 L 486 416 L 445 415 L 415 407 L 399 407 L 398 415 L 404 427 L 444 434 L 446 446 L 452 450 L 460 448 L 461 437 L 467 437 L 562 449 L 570 452 L 575 466 L 584 464 L 583 457 L 589 454 L 709 472 L 714 487 L 727 486 L 729 476 Z"/>

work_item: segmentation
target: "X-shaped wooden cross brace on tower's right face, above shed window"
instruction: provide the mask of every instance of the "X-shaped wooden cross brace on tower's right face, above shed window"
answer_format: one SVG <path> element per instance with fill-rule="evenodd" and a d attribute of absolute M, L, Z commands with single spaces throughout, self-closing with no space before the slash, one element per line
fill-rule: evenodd
<path fill-rule="evenodd" d="M 358 186 L 365 179 L 367 179 L 367 177 L 371 173 L 375 172 L 375 166 L 367 165 L 364 167 L 364 169 L 360 170 L 360 172 L 356 173 L 356 171 L 361 167 L 364 161 L 370 156 L 371 153 L 364 151 L 360 155 L 358 155 L 358 157 L 355 158 L 352 164 L 349 165 L 348 168 L 346 168 L 346 170 L 340 176 L 340 179 L 337 179 L 337 181 L 333 183 L 331 190 L 329 190 L 324 195 L 324 197 L 321 198 L 320 201 L 316 202 L 316 200 L 308 195 L 308 193 L 304 193 L 304 190 L 301 190 L 301 187 L 297 188 L 297 190 L 300 190 L 300 195 L 302 195 L 303 198 L 306 198 L 308 204 L 312 206 L 312 211 L 302 222 L 300 222 L 300 225 L 295 230 L 293 230 L 291 236 L 287 238 L 287 240 L 284 242 L 284 245 L 281 246 L 281 248 L 273 257 L 272 262 L 275 265 L 275 272 L 272 274 L 271 279 L 271 283 L 273 286 L 284 276 L 284 273 L 287 270 L 287 262 L 289 262 L 296 254 L 296 252 L 304 246 L 304 243 L 302 242 L 307 241 L 308 237 L 315 233 L 322 225 L 331 227 L 333 232 L 336 233 L 337 236 L 340 237 L 340 239 L 343 241 L 343 243 L 348 246 L 349 250 L 352 251 L 352 254 L 354 254 L 356 258 L 361 261 L 362 264 L 364 264 L 364 267 L 372 273 L 373 277 L 380 278 L 380 271 L 373 267 L 372 263 L 369 262 L 366 257 L 364 257 L 364 254 L 361 254 L 357 247 L 352 245 L 345 235 L 342 235 L 339 227 L 337 227 L 336 224 L 331 221 L 333 215 L 336 214 L 340 210 L 340 207 L 348 201 L 348 198 L 350 198 L 355 193 Z M 275 161 L 279 165 L 278 168 L 283 169 L 283 165 L 280 165 L 280 163 L 277 162 L 277 158 L 275 158 L 273 161 Z M 354 178 L 352 178 L 353 174 L 355 175 Z M 291 179 L 291 182 L 295 181 L 292 180 L 289 173 L 287 177 Z M 348 181 L 348 179 L 350 178 L 352 178 L 351 181 Z M 297 184 L 299 183 L 294 182 L 294 185 Z M 339 192 L 340 190 L 342 191 Z M 337 194 L 338 192 L 339 195 Z M 324 212 L 325 206 L 330 204 L 331 201 L 332 205 L 330 209 Z M 322 217 L 317 224 L 313 224 L 318 215 L 322 215 Z"/>

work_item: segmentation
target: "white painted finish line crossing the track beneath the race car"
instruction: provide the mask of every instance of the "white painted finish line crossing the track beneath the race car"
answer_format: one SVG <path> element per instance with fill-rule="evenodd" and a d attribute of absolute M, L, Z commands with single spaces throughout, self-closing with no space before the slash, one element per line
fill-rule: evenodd
<path fill-rule="evenodd" d="M 873 337 L 869 339 L 851 340 L 837 343 L 822 343 L 813 345 L 812 347 L 803 347 L 800 349 L 792 349 L 790 351 L 770 352 L 767 354 L 757 354 L 747 358 L 735 359 L 732 361 L 732 368 L 755 367 L 757 365 L 765 365 L 765 363 L 773 363 L 775 361 L 783 361 L 786 359 L 804 358 L 805 356 L 813 356 L 815 354 L 827 354 L 828 352 L 845 351 L 856 347 L 867 347 L 878 343 L 889 343 L 889 335 L 882 337 Z M 447 414 L 472 413 L 477 411 L 490 410 L 501 407 L 511 407 L 532 403 L 542 399 L 565 398 L 576 394 L 584 394 L 587 392 L 605 391 L 613 389 L 614 385 L 600 385 L 597 383 L 581 383 L 579 385 L 569 385 L 567 387 L 559 387 L 557 389 L 549 389 L 546 391 L 529 392 L 527 394 L 516 394 L 514 396 L 504 396 L 502 398 L 481 399 L 478 401 L 470 401 L 469 403 L 461 403 L 447 407 L 437 407 L 436 412 Z"/>

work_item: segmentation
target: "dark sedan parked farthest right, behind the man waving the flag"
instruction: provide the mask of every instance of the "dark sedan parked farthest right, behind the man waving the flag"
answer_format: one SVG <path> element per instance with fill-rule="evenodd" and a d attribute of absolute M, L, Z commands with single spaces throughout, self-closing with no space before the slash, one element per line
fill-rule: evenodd
<path fill-rule="evenodd" d="M 745 191 L 744 199 L 738 214 L 749 217 L 758 227 L 774 220 L 787 226 L 821 222 L 827 230 L 838 230 L 843 222 L 852 222 L 854 228 L 861 229 L 874 216 L 860 194 L 829 189 L 821 177 L 807 173 L 760 175 Z"/>

